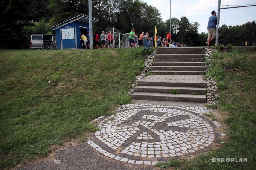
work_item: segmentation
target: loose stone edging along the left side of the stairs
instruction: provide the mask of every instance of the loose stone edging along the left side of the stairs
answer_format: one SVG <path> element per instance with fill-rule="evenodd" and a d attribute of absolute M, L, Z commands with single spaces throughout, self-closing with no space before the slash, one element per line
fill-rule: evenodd
<path fill-rule="evenodd" d="M 155 55 L 156 55 L 156 49 L 152 51 L 151 55 L 149 55 L 147 58 L 146 58 L 146 61 L 145 61 L 145 66 L 142 70 L 142 73 L 140 75 L 137 75 L 136 76 L 136 80 L 135 82 L 131 85 L 131 89 L 130 89 L 130 92 L 128 92 L 129 95 L 131 95 L 132 93 L 134 93 L 134 88 L 135 86 L 137 86 L 137 81 L 140 80 L 140 79 L 143 79 L 143 77 L 150 71 L 151 69 L 151 66 L 152 66 L 152 63 L 154 61 L 154 58 L 155 58 Z"/>

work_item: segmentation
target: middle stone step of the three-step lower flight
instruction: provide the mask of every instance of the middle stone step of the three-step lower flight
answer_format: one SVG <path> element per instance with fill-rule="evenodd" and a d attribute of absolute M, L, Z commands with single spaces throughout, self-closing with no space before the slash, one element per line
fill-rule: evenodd
<path fill-rule="evenodd" d="M 153 92 L 153 93 L 171 93 L 172 89 L 177 89 L 178 94 L 189 94 L 196 92 L 198 95 L 204 95 L 205 88 L 196 87 L 168 87 L 168 86 L 136 86 L 135 92 Z"/>

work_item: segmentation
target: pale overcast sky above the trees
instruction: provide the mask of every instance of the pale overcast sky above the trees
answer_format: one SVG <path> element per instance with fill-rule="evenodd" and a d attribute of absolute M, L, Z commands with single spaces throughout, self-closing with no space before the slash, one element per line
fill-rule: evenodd
<path fill-rule="evenodd" d="M 170 17 L 170 0 L 142 0 L 149 5 L 156 7 L 161 12 L 163 20 Z M 221 0 L 221 5 L 243 5 L 255 4 L 256 0 Z M 217 11 L 218 0 L 172 0 L 171 15 L 180 19 L 182 16 L 189 18 L 190 22 L 198 22 L 200 27 L 198 32 L 207 32 L 208 19 L 212 10 Z M 222 6 L 223 7 L 223 6 Z M 256 20 L 256 7 L 223 9 L 221 11 L 220 25 L 243 24 Z M 224 17 L 224 18 L 222 18 Z"/>

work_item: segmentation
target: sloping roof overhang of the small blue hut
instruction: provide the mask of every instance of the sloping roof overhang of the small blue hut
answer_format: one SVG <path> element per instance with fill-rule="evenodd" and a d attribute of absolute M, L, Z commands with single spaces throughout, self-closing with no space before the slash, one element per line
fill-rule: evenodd
<path fill-rule="evenodd" d="M 93 19 L 93 23 L 96 23 L 96 22 L 99 21 L 99 19 L 95 18 L 95 17 L 92 17 L 92 19 Z M 74 21 L 77 21 L 79 23 L 86 23 L 87 24 L 87 23 L 89 23 L 89 16 L 85 15 L 85 14 L 79 14 L 79 15 L 71 17 L 71 18 L 69 18 L 67 20 L 64 20 L 64 21 L 62 21 L 62 22 L 60 22 L 60 23 L 58 23 L 58 24 L 56 24 L 54 26 L 51 26 L 50 29 L 55 30 L 55 29 L 58 29 L 58 28 L 60 28 L 60 27 L 62 27 L 64 25 L 72 23 Z"/>

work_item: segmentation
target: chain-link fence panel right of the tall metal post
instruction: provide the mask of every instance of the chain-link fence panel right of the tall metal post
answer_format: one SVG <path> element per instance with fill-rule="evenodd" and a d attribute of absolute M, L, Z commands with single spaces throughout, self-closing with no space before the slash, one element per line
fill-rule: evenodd
<path fill-rule="evenodd" d="M 219 44 L 256 46 L 256 0 L 221 0 Z"/>

